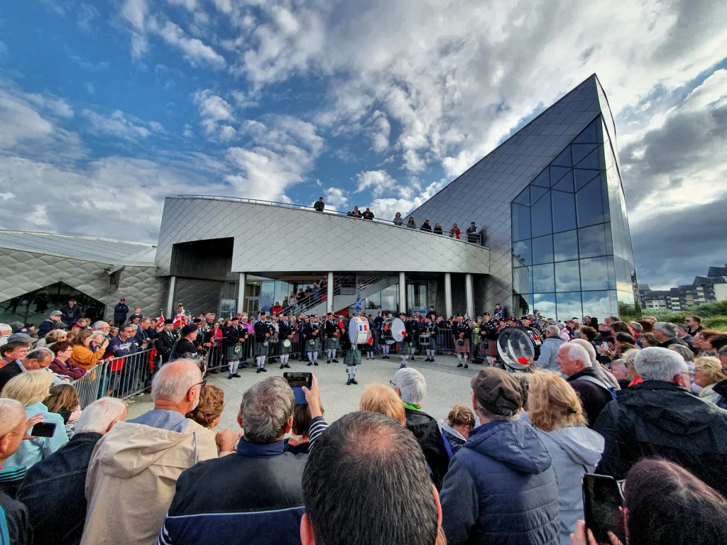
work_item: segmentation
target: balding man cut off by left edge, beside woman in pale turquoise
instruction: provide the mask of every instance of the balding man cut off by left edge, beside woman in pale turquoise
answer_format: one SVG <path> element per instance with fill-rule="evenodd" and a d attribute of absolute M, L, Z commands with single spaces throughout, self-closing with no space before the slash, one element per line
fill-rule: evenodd
<path fill-rule="evenodd" d="M 0 508 L 3 511 L 0 521 L 2 541 L 8 545 L 30 545 L 33 543 L 33 529 L 28 518 L 28 509 L 17 501 L 17 487 L 23 480 L 25 469 L 12 467 L 7 460 L 15 455 L 23 441 L 27 424 L 23 405 L 16 400 L 0 399 Z M 8 541 L 9 540 L 9 541 Z M 38 543 L 38 541 L 36 541 Z"/>

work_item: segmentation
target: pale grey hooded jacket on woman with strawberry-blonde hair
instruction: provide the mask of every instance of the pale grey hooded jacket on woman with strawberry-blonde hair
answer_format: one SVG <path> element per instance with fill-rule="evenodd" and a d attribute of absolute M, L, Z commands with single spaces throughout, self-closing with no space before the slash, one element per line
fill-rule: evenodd
<path fill-rule="evenodd" d="M 576 521 L 583 518 L 583 475 L 595 471 L 604 440 L 587 427 L 556 428 L 552 432 L 535 429 L 553 459 L 561 515 L 559 537 L 561 545 L 569 545 L 569 534 L 575 531 Z"/>

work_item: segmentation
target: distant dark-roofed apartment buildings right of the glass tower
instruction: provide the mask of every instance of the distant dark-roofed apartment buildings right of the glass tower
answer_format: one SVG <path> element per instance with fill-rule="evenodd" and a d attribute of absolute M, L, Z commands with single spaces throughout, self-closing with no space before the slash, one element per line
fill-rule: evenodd
<path fill-rule="evenodd" d="M 644 310 L 678 311 L 696 304 L 727 301 L 727 265 L 710 267 L 706 276 L 695 276 L 691 284 L 667 290 L 652 290 L 648 284 L 639 284 L 638 291 Z"/>

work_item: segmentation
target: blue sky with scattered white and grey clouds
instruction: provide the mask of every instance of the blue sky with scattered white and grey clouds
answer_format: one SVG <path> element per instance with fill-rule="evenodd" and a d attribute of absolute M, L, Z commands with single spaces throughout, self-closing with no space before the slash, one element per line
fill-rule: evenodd
<path fill-rule="evenodd" d="M 414 209 L 590 74 L 641 283 L 727 262 L 727 2 L 0 6 L 0 228 L 156 243 L 164 197 Z"/>

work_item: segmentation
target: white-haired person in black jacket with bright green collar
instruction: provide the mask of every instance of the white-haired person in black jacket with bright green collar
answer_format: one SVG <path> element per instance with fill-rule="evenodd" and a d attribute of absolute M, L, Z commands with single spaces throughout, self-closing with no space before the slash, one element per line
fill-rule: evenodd
<path fill-rule="evenodd" d="M 427 393 L 424 376 L 416 369 L 400 368 L 394 374 L 392 386 L 403 401 L 406 427 L 414 437 L 417 437 L 432 471 L 434 484 L 439 490 L 447 472 L 449 455 L 444 447 L 437 421 L 422 411 L 422 402 Z"/>

